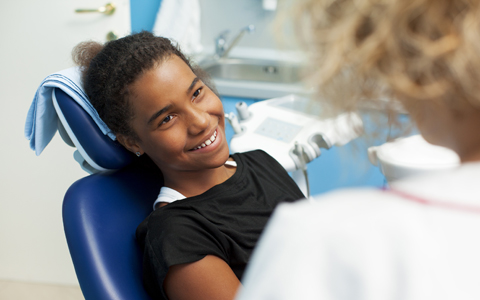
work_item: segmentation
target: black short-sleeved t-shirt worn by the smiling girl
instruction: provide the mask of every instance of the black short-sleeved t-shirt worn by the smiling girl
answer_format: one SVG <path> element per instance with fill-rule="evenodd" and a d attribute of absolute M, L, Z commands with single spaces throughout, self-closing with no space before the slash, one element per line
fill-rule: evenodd
<path fill-rule="evenodd" d="M 167 299 L 168 268 L 215 255 L 240 280 L 275 206 L 304 198 L 285 169 L 267 153 L 233 154 L 235 174 L 205 193 L 152 212 L 137 228 L 143 247 L 144 285 L 155 299 Z"/>

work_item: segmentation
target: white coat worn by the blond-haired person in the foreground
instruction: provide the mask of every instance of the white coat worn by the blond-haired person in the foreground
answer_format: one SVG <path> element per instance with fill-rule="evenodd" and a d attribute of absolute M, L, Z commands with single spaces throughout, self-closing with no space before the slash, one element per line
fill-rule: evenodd
<path fill-rule="evenodd" d="M 279 206 L 237 300 L 480 299 L 480 163 L 392 188 L 433 203 L 353 189 Z"/>

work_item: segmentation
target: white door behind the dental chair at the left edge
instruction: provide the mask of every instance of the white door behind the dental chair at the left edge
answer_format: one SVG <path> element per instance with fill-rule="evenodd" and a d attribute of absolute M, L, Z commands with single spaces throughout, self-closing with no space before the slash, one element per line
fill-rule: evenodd
<path fill-rule="evenodd" d="M 129 28 L 126 4 L 123 11 L 128 16 Z M 61 211 L 68 187 L 87 174 L 73 159 L 74 149 L 59 136 L 39 157 L 29 149 L 24 137 L 27 111 L 42 79 L 72 66 L 73 46 L 87 39 L 85 36 L 94 36 L 91 32 L 96 30 L 91 28 L 98 29 L 106 20 L 101 15 L 75 18 L 77 5 L 96 6 L 98 1 L 0 2 L 0 279 L 3 280 L 77 284 Z M 105 36 L 103 31 L 101 36 Z"/>

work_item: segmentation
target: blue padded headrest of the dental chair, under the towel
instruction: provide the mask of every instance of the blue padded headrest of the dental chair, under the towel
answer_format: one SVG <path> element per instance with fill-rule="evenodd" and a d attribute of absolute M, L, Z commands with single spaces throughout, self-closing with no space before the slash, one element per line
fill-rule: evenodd
<path fill-rule="evenodd" d="M 64 91 L 53 89 L 52 99 L 59 118 L 60 134 L 67 144 L 75 145 L 84 163 L 88 164 L 82 166 L 84 169 L 90 173 L 120 169 L 134 160 L 132 153 L 104 135 L 93 119 Z"/>

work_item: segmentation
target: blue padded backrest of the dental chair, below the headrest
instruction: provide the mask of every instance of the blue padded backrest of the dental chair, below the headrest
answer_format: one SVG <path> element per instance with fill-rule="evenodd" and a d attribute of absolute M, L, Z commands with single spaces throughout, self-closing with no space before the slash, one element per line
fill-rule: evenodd
<path fill-rule="evenodd" d="M 150 299 L 135 230 L 161 185 L 160 175 L 129 166 L 82 178 L 68 189 L 63 223 L 85 299 Z"/>

